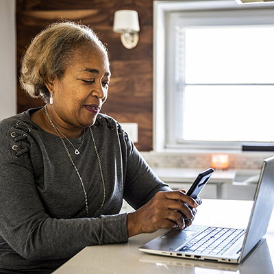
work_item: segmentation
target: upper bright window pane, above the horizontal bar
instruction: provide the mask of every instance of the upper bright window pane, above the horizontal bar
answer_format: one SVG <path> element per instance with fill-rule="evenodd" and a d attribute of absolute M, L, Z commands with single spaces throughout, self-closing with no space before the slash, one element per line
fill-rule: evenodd
<path fill-rule="evenodd" d="M 274 25 L 187 27 L 186 84 L 273 84 Z"/>

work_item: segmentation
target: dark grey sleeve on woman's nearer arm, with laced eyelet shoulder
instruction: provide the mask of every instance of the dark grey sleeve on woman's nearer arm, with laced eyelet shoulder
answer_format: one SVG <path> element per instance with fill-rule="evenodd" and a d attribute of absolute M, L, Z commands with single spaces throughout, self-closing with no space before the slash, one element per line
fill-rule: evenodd
<path fill-rule="evenodd" d="M 32 162 L 22 131 L 1 125 L 0 235 L 30 261 L 70 258 L 88 245 L 127 241 L 127 215 L 55 219 L 36 189 Z M 27 132 L 27 131 L 24 131 Z M 12 137 L 12 138 L 11 138 Z M 25 134 L 25 138 L 29 138 Z M 35 144 L 34 144 L 35 145 Z"/>

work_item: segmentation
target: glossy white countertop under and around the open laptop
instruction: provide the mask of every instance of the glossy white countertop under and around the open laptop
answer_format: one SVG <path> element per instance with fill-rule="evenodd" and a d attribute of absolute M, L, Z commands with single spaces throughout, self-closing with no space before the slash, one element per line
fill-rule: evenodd
<path fill-rule="evenodd" d="M 199 207 L 196 224 L 221 225 L 245 228 L 249 219 L 253 201 L 204 200 Z M 216 212 L 220 208 L 222 215 Z M 274 260 L 274 215 L 269 224 L 266 241 L 241 264 L 202 262 L 183 258 L 149 255 L 138 248 L 166 230 L 161 229 L 153 234 L 141 234 L 129 238 L 129 242 L 113 245 L 86 247 L 71 260 L 66 262 L 54 274 L 151 274 L 151 273 L 184 273 L 184 274 L 273 274 Z M 272 260 L 271 260 L 272 258 Z M 228 272 L 227 272 L 228 271 Z"/>

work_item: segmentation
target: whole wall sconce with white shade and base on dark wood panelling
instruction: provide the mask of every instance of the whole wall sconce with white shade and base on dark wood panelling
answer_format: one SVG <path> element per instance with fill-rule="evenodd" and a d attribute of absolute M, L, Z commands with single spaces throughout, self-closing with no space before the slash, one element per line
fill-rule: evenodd
<path fill-rule="evenodd" d="M 136 10 L 117 10 L 114 13 L 113 32 L 121 34 L 121 41 L 127 49 L 133 49 L 139 40 L 139 20 Z"/>

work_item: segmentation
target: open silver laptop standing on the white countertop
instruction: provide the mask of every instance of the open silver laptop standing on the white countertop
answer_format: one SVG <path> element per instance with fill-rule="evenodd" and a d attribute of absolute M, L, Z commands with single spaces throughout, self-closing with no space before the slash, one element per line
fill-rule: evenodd
<path fill-rule="evenodd" d="M 140 247 L 146 253 L 239 264 L 262 240 L 274 205 L 274 156 L 264 160 L 247 229 L 190 225 Z M 213 212 L 214 213 L 214 212 Z"/>

